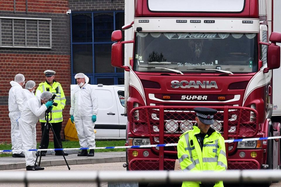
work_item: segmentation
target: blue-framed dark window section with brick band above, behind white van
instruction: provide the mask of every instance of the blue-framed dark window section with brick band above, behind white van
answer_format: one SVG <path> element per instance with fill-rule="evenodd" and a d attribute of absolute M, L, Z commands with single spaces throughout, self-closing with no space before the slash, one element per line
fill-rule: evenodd
<path fill-rule="evenodd" d="M 124 70 L 111 66 L 111 34 L 124 25 L 124 0 L 70 0 L 71 76 L 83 72 L 90 84 L 124 84 Z"/>

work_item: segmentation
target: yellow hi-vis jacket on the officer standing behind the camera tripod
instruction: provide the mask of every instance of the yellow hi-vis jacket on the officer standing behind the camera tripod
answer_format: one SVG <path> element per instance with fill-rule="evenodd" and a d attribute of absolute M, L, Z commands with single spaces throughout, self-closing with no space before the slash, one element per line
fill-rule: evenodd
<path fill-rule="evenodd" d="M 52 94 L 56 94 L 56 98 L 54 99 L 54 103 L 58 103 L 58 106 L 53 106 L 52 109 L 52 120 L 49 120 L 50 123 L 58 123 L 62 122 L 62 110 L 65 107 L 65 96 L 64 96 L 64 91 L 61 87 L 61 84 L 59 82 L 56 82 L 54 80 L 52 86 L 48 84 L 48 82 L 41 82 L 36 89 L 35 96 L 37 94 L 41 94 L 43 91 L 49 91 Z M 40 122 L 46 122 L 45 119 L 40 119 Z"/>

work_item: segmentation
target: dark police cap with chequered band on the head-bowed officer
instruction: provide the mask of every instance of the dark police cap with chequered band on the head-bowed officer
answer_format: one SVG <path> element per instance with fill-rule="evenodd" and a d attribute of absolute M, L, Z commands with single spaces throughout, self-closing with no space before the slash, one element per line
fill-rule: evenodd
<path fill-rule="evenodd" d="M 217 113 L 217 110 L 205 107 L 197 107 L 193 108 L 193 110 L 196 112 L 196 116 L 202 123 L 207 125 L 214 123 L 214 114 Z"/>

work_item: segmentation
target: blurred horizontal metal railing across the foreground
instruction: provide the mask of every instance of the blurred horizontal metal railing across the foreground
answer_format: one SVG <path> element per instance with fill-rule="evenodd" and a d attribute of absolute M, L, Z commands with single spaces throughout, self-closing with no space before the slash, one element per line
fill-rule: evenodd
<path fill-rule="evenodd" d="M 42 173 L 43 172 L 43 173 Z M 44 177 L 42 177 L 44 174 Z M 9 171 L 1 172 L 0 183 L 37 182 L 161 182 L 224 181 L 232 183 L 281 181 L 278 170 L 227 170 L 225 172 L 181 172 L 181 171 Z M 100 185 L 98 185 L 100 186 Z"/>

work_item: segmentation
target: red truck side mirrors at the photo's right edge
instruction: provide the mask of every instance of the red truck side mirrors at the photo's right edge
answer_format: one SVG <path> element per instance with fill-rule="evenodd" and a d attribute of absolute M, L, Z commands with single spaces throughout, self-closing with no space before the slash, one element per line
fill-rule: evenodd
<path fill-rule="evenodd" d="M 263 70 L 264 73 L 280 67 L 280 46 L 276 45 L 276 43 L 281 42 L 281 33 L 272 32 L 269 41 L 271 41 L 271 44 L 267 49 L 267 68 Z"/>

